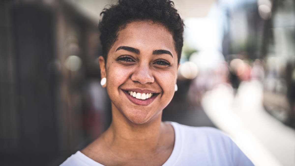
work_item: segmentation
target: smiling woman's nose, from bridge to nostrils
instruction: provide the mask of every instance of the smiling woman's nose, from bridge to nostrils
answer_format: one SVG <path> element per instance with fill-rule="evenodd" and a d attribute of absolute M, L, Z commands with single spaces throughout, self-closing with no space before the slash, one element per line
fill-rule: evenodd
<path fill-rule="evenodd" d="M 140 82 L 141 84 L 152 83 L 155 81 L 148 64 L 139 64 L 132 73 L 131 80 Z"/>

